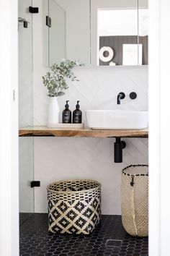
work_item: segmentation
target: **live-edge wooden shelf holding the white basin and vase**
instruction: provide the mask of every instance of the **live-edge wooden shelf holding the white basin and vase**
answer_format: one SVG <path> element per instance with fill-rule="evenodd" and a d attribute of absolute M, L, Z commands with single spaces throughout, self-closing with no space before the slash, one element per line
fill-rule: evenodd
<path fill-rule="evenodd" d="M 24 127 L 19 137 L 148 137 L 148 129 L 61 129 L 48 127 Z"/>

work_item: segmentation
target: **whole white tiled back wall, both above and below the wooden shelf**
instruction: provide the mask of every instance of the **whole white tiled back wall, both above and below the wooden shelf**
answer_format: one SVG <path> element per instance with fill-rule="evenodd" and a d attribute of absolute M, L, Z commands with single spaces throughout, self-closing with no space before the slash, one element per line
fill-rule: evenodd
<path fill-rule="evenodd" d="M 46 125 L 48 116 L 49 99 L 42 85 L 42 75 L 47 71 L 43 66 L 42 37 L 40 12 L 33 16 L 34 125 Z M 66 99 L 70 100 L 72 111 L 80 100 L 83 115 L 92 108 L 148 109 L 147 67 L 80 67 L 74 72 L 80 82 L 71 82 L 66 96 L 59 98 L 61 111 Z M 126 98 L 117 106 L 117 94 L 121 91 Z M 134 101 L 129 98 L 132 91 L 138 94 Z M 102 183 L 102 213 L 120 214 L 121 170 L 132 163 L 148 163 L 148 139 L 125 139 L 123 163 L 118 164 L 113 162 L 114 141 L 114 138 L 35 137 L 35 180 L 41 182 L 41 187 L 35 189 L 35 212 L 47 211 L 45 187 L 50 182 L 89 178 Z"/>

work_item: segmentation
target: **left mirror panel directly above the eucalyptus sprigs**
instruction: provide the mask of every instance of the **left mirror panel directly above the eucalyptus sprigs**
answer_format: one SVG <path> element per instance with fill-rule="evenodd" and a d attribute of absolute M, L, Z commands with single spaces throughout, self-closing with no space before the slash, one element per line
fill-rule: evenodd
<path fill-rule="evenodd" d="M 61 59 L 90 64 L 90 1 L 48 0 L 48 16 L 49 65 Z"/>

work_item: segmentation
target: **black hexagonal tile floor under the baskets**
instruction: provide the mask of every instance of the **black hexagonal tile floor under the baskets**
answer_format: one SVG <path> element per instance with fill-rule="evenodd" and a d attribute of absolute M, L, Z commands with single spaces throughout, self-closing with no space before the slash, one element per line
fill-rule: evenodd
<path fill-rule="evenodd" d="M 120 241 L 110 241 L 112 239 Z M 148 238 L 128 235 L 122 227 L 121 216 L 104 215 L 89 236 L 50 235 L 48 215 L 34 213 L 20 226 L 20 255 L 144 256 L 148 255 Z"/>

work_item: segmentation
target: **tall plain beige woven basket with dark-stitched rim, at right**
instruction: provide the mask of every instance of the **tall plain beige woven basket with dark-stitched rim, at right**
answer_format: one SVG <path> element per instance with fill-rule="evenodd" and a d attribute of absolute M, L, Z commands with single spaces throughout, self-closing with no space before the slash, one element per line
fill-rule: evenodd
<path fill-rule="evenodd" d="M 148 166 L 122 170 L 122 225 L 131 236 L 148 236 Z"/>

